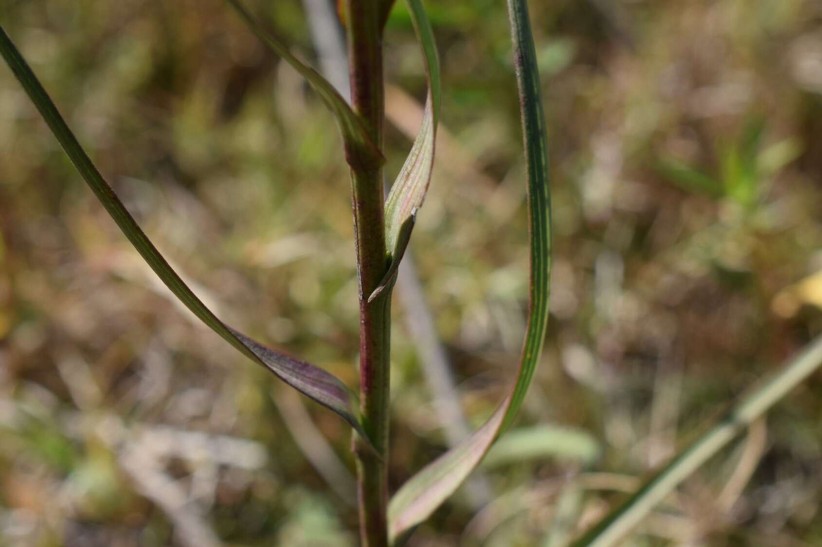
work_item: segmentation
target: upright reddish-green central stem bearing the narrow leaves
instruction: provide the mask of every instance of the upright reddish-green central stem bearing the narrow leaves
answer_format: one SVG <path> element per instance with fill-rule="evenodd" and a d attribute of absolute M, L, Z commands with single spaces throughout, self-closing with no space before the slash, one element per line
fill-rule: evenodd
<path fill-rule="evenodd" d="M 348 0 L 351 103 L 382 149 L 385 94 L 380 11 L 374 0 Z M 390 291 L 368 303 L 388 269 L 382 168 L 352 168 L 354 237 L 360 303 L 360 410 L 377 454 L 356 435 L 360 536 L 363 547 L 386 547 L 388 532 L 388 425 Z"/>

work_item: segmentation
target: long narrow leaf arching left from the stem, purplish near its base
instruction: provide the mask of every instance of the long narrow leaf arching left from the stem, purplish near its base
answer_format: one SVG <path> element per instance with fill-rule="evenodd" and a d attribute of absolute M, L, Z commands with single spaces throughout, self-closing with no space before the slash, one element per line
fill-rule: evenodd
<path fill-rule="evenodd" d="M 348 386 L 326 370 L 277 352 L 242 333 L 238 333 L 238 331 L 220 321 L 183 283 L 180 276 L 159 254 L 159 251 L 145 235 L 145 232 L 141 230 L 132 215 L 122 205 L 122 201 L 114 193 L 113 188 L 105 181 L 95 164 L 92 163 L 88 154 L 85 153 L 85 150 L 66 125 L 52 99 L 48 97 L 43 85 L 37 80 L 35 73 L 31 71 L 31 68 L 20 52 L 17 51 L 12 39 L 8 37 L 2 26 L 0 26 L 0 53 L 2 53 L 2 57 L 12 69 L 14 76 L 20 81 L 31 101 L 35 103 L 40 115 L 43 116 L 54 136 L 57 137 L 62 149 L 72 160 L 81 177 L 94 191 L 97 199 L 109 212 L 109 215 L 128 238 L 128 241 L 131 241 L 137 252 L 142 255 L 151 269 L 155 271 L 155 274 L 163 280 L 163 283 L 169 287 L 174 296 L 177 296 L 210 329 L 218 333 L 245 356 L 265 366 L 301 393 L 337 412 L 360 434 L 364 435 L 363 426 L 359 419 L 357 396 Z"/>

